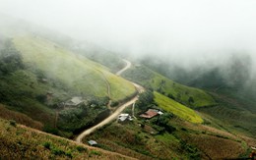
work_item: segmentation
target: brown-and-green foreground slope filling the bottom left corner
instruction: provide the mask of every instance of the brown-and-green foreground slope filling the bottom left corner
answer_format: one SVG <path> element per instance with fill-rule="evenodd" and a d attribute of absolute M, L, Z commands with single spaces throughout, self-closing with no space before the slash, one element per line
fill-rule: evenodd
<path fill-rule="evenodd" d="M 132 159 L 0 119 L 0 159 Z"/>

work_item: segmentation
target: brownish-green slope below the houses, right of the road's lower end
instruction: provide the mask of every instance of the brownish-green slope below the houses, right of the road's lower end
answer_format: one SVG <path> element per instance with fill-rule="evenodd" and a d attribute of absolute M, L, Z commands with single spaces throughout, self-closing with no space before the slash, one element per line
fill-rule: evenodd
<path fill-rule="evenodd" d="M 198 128 L 172 118 L 168 123 L 175 130 L 162 131 L 154 121 L 134 120 L 125 125 L 114 122 L 84 141 L 96 139 L 100 148 L 138 159 L 228 159 L 249 155 L 245 141 L 214 128 Z"/>

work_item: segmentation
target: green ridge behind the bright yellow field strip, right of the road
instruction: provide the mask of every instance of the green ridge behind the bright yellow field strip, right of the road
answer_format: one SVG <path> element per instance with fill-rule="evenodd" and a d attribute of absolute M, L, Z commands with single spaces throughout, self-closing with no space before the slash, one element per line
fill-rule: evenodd
<path fill-rule="evenodd" d="M 153 88 L 187 106 L 202 107 L 216 104 L 211 95 L 205 91 L 169 80 L 145 66 L 133 67 L 125 72 L 123 77 Z"/>

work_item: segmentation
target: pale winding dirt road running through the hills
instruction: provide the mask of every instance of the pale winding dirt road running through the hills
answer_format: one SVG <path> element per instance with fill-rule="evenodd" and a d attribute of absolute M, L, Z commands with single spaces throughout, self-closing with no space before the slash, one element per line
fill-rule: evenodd
<path fill-rule="evenodd" d="M 118 71 L 116 73 L 117 76 L 120 76 L 123 72 L 125 72 L 126 70 L 128 70 L 132 64 L 131 62 L 127 61 L 127 60 L 123 60 L 125 63 L 126 63 L 126 66 Z M 132 81 L 131 81 L 132 82 Z M 137 84 L 137 83 L 134 83 L 132 82 L 133 85 L 136 87 L 136 89 L 138 90 L 139 93 L 142 93 L 145 91 L 144 87 L 142 87 L 141 85 Z M 122 104 L 121 106 L 119 106 L 110 116 L 108 116 L 106 119 L 104 119 L 102 122 L 100 122 L 99 124 L 97 124 L 96 126 L 84 131 L 83 133 L 80 133 L 77 137 L 76 137 L 76 141 L 77 142 L 82 142 L 82 139 L 86 136 L 86 135 L 89 135 L 90 133 L 94 133 L 97 129 L 103 127 L 104 125 L 114 121 L 118 115 L 128 106 L 134 104 L 138 98 L 139 98 L 139 93 L 134 96 L 131 100 L 129 100 L 128 102 Z"/>

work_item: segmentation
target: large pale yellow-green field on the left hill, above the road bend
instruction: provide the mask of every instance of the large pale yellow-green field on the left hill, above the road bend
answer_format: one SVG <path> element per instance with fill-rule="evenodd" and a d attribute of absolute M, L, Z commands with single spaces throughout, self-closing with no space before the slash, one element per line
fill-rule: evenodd
<path fill-rule="evenodd" d="M 23 36 L 14 38 L 13 42 L 22 53 L 26 64 L 46 73 L 47 77 L 61 81 L 74 92 L 100 97 L 108 96 L 106 80 L 113 90 L 122 86 L 120 91 L 111 94 L 113 100 L 125 98 L 135 91 L 133 85 L 127 80 L 107 73 L 106 68 L 101 65 L 62 49 L 46 39 Z"/>

